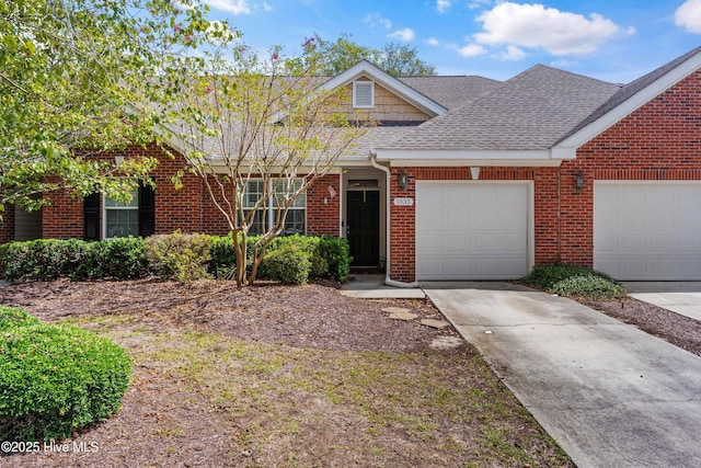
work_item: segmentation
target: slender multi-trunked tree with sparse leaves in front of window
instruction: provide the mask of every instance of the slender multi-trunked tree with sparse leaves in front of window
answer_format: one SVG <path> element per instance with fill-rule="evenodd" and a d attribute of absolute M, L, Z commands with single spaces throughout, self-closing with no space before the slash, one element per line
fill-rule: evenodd
<path fill-rule="evenodd" d="M 220 39 L 164 78 L 176 96 L 164 125 L 232 232 L 238 286 L 255 282 L 290 210 L 365 132 L 364 116 L 343 105 L 345 90 L 320 90 L 323 65 L 318 55 L 274 48 L 261 57 Z"/>

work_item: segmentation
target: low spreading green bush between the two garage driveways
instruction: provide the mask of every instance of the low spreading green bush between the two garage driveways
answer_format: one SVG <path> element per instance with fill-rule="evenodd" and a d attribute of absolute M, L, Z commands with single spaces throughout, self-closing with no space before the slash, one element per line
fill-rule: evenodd
<path fill-rule="evenodd" d="M 568 264 L 536 266 L 520 282 L 567 297 L 617 299 L 628 294 L 606 273 Z"/>

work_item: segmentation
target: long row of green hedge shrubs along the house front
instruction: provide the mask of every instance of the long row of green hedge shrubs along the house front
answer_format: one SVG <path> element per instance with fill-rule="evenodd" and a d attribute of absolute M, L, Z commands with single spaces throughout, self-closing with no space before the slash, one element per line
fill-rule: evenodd
<path fill-rule="evenodd" d="M 260 238 L 250 237 L 248 258 Z M 345 239 L 333 236 L 289 236 L 272 241 L 266 253 L 294 247 L 309 261 L 308 277 L 344 283 L 350 270 Z M 102 241 L 38 239 L 0 246 L 4 278 L 10 282 L 131 279 L 154 274 L 164 279 L 233 278 L 235 252 L 229 236 L 185 235 L 120 238 Z M 250 260 L 248 262 L 250 267 Z M 294 272 L 290 272 L 295 276 Z M 265 278 L 265 269 L 258 276 Z"/>

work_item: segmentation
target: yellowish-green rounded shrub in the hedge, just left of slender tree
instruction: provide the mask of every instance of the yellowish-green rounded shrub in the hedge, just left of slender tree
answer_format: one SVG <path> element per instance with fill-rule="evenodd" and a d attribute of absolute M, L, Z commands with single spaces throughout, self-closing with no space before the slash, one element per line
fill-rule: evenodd
<path fill-rule="evenodd" d="M 145 244 L 149 269 L 159 277 L 183 283 L 210 277 L 207 272 L 211 259 L 210 236 L 175 231 L 151 236 Z"/>

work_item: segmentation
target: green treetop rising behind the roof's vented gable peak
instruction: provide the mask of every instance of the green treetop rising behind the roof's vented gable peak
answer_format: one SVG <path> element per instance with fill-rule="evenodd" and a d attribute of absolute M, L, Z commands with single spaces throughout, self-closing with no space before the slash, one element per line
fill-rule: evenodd
<path fill-rule="evenodd" d="M 416 47 L 409 44 L 387 43 L 382 49 L 375 49 L 353 42 L 349 34 L 342 34 L 336 41 L 324 41 L 314 34 L 304 43 L 304 49 L 320 57 L 324 65 L 319 71 L 326 76 L 338 75 L 360 60 L 395 77 L 436 75 L 435 67 L 420 59 Z"/>

